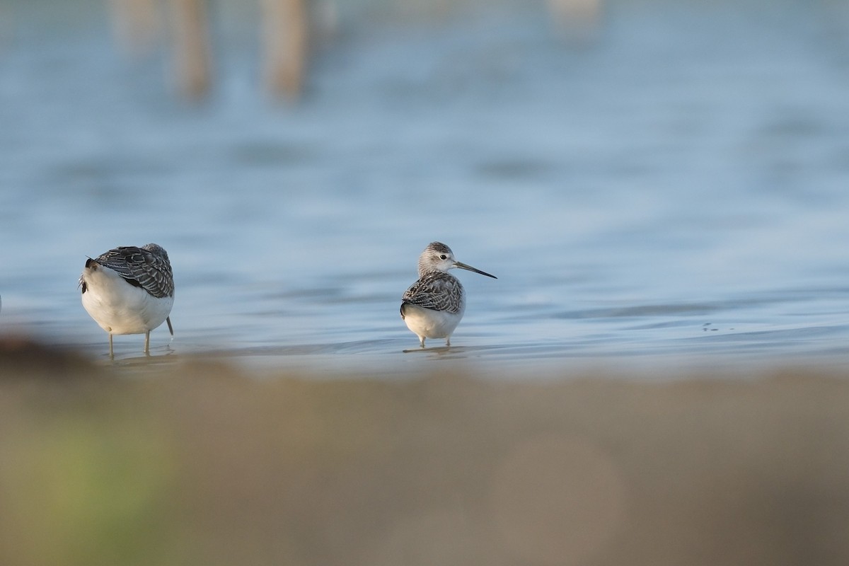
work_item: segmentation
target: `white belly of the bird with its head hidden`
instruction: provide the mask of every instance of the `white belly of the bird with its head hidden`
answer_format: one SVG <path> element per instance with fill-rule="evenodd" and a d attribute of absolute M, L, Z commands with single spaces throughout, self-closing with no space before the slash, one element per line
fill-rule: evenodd
<path fill-rule="evenodd" d="M 127 283 L 108 267 L 83 272 L 86 292 L 82 306 L 106 332 L 143 334 L 158 327 L 171 314 L 173 297 L 156 298 Z"/>

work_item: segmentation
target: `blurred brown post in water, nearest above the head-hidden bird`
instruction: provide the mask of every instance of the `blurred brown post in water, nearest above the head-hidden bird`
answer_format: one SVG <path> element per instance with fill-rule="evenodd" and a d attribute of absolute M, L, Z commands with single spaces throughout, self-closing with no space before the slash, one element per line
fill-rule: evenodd
<path fill-rule="evenodd" d="M 188 98 L 201 98 L 211 82 L 205 0 L 171 0 L 171 20 L 177 88 Z"/>

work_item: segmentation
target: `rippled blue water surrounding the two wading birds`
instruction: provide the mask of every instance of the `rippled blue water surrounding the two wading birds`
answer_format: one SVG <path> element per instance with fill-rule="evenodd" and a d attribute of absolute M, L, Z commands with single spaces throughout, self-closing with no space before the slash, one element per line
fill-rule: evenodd
<path fill-rule="evenodd" d="M 2 332 L 104 357 L 86 256 L 156 242 L 177 282 L 163 359 L 849 366 L 841 3 L 622 0 L 579 44 L 542 3 L 349 7 L 297 105 L 257 87 L 227 3 L 200 105 L 166 53 L 115 47 L 101 3 L 59 4 L 0 8 Z M 499 278 L 458 273 L 455 347 L 404 353 L 399 299 L 432 240 Z M 142 343 L 117 337 L 118 358 Z"/>

